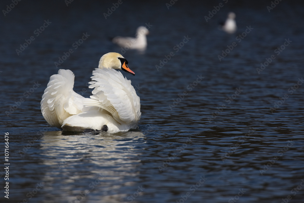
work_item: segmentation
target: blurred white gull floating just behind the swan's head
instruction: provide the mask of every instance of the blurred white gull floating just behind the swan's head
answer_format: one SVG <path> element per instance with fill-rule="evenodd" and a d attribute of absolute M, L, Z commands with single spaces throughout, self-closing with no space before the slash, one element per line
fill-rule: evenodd
<path fill-rule="evenodd" d="M 118 44 L 120 47 L 128 49 L 139 49 L 144 50 L 147 47 L 147 37 L 149 31 L 146 27 L 140 26 L 136 30 L 136 35 L 134 37 L 114 37 L 112 42 Z"/>

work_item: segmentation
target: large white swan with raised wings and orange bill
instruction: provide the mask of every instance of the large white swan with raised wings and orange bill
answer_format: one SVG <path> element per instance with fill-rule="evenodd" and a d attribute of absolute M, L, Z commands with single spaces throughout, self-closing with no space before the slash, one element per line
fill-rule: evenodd
<path fill-rule="evenodd" d="M 51 125 L 64 131 L 96 129 L 115 133 L 136 128 L 140 120 L 140 98 L 131 81 L 114 69 L 135 75 L 122 55 L 114 52 L 100 58 L 93 71 L 92 96 L 73 91 L 74 74 L 60 69 L 52 75 L 41 100 L 41 112 Z"/>

